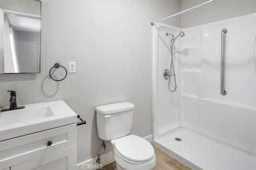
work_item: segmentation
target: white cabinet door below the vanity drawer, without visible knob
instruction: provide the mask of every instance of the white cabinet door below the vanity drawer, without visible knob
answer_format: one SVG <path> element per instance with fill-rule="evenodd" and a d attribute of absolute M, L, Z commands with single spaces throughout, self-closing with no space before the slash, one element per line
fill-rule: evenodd
<path fill-rule="evenodd" d="M 76 170 L 76 145 L 12 166 L 11 170 Z"/>

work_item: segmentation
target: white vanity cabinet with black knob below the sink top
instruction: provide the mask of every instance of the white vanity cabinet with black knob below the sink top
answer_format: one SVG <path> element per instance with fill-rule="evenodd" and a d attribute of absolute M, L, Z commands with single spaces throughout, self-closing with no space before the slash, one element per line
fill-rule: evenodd
<path fill-rule="evenodd" d="M 76 170 L 76 123 L 0 142 L 0 170 Z"/>

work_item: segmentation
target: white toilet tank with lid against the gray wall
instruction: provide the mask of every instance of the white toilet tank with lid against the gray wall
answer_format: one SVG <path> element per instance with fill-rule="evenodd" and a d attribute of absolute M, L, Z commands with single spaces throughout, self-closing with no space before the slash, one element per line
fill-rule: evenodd
<path fill-rule="evenodd" d="M 126 136 L 132 127 L 134 105 L 129 102 L 96 107 L 97 131 L 100 139 L 110 141 Z"/>

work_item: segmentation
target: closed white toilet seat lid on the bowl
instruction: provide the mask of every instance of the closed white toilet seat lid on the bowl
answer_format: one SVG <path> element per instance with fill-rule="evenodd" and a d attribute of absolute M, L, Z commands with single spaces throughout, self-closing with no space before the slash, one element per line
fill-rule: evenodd
<path fill-rule="evenodd" d="M 136 135 L 114 140 L 114 153 L 131 164 L 146 164 L 155 159 L 152 145 Z"/>

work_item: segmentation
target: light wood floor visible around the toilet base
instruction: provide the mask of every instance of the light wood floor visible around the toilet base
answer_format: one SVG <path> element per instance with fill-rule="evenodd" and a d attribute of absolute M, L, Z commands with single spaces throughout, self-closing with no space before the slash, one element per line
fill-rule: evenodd
<path fill-rule="evenodd" d="M 156 154 L 156 166 L 152 170 L 191 170 L 186 165 L 182 164 L 178 160 L 172 158 L 162 150 L 154 147 Z M 102 170 L 114 170 L 116 168 L 116 162 L 104 166 Z"/>

